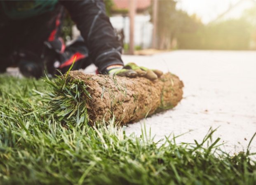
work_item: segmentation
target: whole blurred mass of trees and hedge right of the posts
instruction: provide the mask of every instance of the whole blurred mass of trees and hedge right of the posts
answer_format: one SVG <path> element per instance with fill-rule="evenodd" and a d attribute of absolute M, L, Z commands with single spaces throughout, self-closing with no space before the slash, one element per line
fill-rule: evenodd
<path fill-rule="evenodd" d="M 245 11 L 240 19 L 204 25 L 196 15 L 177 10 L 174 0 L 159 1 L 158 48 L 176 48 L 177 43 L 178 49 L 253 49 L 250 44 L 256 43 L 255 9 Z"/>

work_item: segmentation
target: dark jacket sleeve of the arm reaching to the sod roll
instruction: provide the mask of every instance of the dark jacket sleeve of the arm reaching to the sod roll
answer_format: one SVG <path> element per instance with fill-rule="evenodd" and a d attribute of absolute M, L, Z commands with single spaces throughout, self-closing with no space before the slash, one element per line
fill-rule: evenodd
<path fill-rule="evenodd" d="M 59 2 L 76 23 L 89 49 L 89 56 L 100 72 L 111 65 L 123 65 L 122 46 L 115 36 L 102 0 Z"/>

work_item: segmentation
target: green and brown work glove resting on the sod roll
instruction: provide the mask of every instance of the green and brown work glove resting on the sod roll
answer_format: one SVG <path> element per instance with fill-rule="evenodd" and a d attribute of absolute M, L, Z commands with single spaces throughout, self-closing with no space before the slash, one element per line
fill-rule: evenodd
<path fill-rule="evenodd" d="M 127 63 L 124 67 L 112 68 L 108 71 L 110 75 L 125 77 L 145 77 L 149 80 L 156 80 L 161 77 L 163 72 L 160 70 L 150 70 L 145 67 L 139 67 L 135 63 Z"/>

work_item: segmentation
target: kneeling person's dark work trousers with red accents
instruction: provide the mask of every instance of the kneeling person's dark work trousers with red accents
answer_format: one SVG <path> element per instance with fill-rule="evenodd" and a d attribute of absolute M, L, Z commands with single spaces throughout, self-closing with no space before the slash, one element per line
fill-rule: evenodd
<path fill-rule="evenodd" d="M 60 37 L 63 15 L 61 5 L 29 19 L 12 20 L 0 15 L 0 72 L 9 66 L 19 66 L 22 72 L 26 63 L 32 62 L 37 71 L 28 76 L 39 77 L 44 69 L 52 74 L 56 69 L 65 73 L 75 56 L 73 69 L 88 66 L 91 62 L 82 38 L 66 47 Z"/>

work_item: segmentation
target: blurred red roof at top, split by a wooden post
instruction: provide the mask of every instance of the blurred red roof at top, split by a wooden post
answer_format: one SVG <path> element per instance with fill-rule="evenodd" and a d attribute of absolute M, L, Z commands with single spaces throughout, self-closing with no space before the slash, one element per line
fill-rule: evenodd
<path fill-rule="evenodd" d="M 115 8 L 117 9 L 129 9 L 129 1 L 131 0 L 113 0 L 115 3 Z M 151 0 L 135 0 L 137 9 L 147 9 Z"/>

